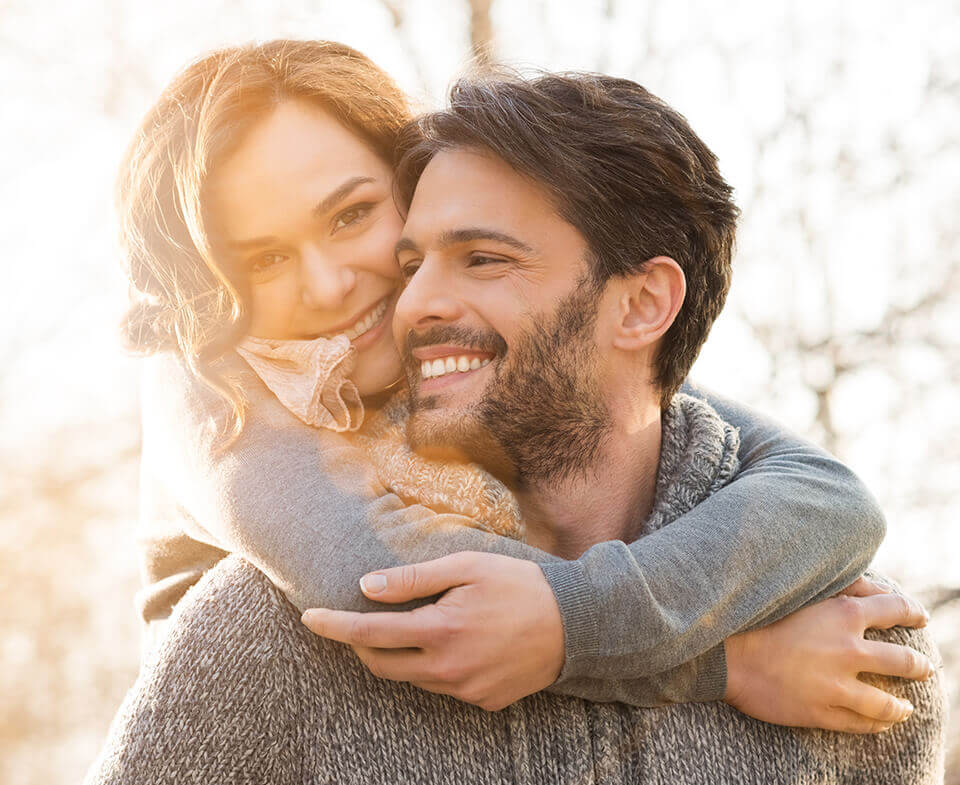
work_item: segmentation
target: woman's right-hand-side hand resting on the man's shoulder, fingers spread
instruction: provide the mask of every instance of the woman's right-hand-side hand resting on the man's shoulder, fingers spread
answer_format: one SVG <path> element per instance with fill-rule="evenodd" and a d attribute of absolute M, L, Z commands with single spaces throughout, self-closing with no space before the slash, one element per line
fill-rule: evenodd
<path fill-rule="evenodd" d="M 836 597 L 728 638 L 724 700 L 777 725 L 885 731 L 909 717 L 913 706 L 858 674 L 927 679 L 933 666 L 907 646 L 868 641 L 863 632 L 923 627 L 928 618 L 916 600 L 860 578 Z"/>

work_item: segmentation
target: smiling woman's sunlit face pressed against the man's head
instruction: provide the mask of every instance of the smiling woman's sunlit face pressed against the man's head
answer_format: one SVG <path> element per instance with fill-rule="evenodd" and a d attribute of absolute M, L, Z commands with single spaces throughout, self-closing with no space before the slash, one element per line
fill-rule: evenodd
<path fill-rule="evenodd" d="M 250 334 L 310 340 L 345 333 L 361 395 L 400 376 L 390 324 L 403 220 L 391 169 L 323 109 L 286 101 L 208 180 L 214 248 L 246 276 Z"/>

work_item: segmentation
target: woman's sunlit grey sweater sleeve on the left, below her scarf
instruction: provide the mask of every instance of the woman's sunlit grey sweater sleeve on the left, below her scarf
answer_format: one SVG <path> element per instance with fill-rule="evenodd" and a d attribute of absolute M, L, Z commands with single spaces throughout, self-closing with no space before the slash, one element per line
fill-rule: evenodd
<path fill-rule="evenodd" d="M 404 504 L 349 438 L 304 426 L 255 379 L 243 380 L 243 431 L 220 449 L 226 405 L 178 360 L 147 365 L 143 475 L 176 500 L 190 538 L 243 556 L 301 610 L 382 611 L 360 591 L 365 573 L 459 551 L 559 561 L 470 518 Z M 176 569 L 170 553 L 145 558 Z"/>

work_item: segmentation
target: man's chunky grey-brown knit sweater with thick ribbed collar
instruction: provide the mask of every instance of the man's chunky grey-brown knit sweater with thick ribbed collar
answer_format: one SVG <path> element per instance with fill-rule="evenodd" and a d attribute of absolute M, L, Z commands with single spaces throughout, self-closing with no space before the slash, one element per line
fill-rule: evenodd
<path fill-rule="evenodd" d="M 709 407 L 692 399 L 671 407 L 646 533 L 722 486 L 735 456 L 735 437 Z M 538 693 L 487 713 L 372 677 L 347 647 L 309 633 L 284 595 L 237 556 L 192 588 L 171 622 L 89 785 L 932 785 L 942 778 L 939 676 L 883 680 L 916 711 L 868 736 L 768 725 L 718 702 L 644 709 Z M 925 631 L 871 637 L 936 661 Z"/>

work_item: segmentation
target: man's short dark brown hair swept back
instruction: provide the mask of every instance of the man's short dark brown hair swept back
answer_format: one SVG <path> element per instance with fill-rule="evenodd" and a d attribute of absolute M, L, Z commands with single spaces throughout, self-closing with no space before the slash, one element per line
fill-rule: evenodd
<path fill-rule="evenodd" d="M 683 269 L 687 295 L 654 381 L 666 406 L 686 378 L 730 288 L 739 210 L 716 156 L 686 119 L 643 87 L 598 74 L 458 81 L 447 109 L 412 122 L 397 150 L 407 208 L 438 152 L 487 150 L 543 187 L 590 249 L 593 284 L 655 256 Z"/>

